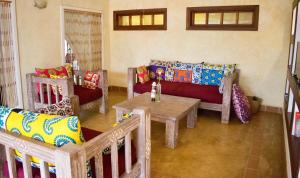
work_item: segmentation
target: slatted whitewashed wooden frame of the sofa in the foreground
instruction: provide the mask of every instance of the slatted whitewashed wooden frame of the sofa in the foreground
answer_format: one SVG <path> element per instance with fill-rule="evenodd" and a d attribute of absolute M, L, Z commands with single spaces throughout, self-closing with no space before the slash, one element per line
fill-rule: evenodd
<path fill-rule="evenodd" d="M 57 178 L 85 178 L 87 177 L 86 161 L 94 158 L 94 177 L 103 177 L 102 150 L 111 146 L 111 173 L 113 178 L 132 177 L 150 178 L 151 156 L 151 124 L 150 112 L 147 108 L 133 110 L 133 116 L 118 126 L 104 132 L 82 145 L 67 144 L 57 148 L 24 136 L 0 130 L 0 178 L 4 178 L 5 162 L 8 164 L 9 177 L 16 178 L 15 149 L 22 153 L 24 177 L 32 177 L 29 158 L 40 159 L 40 177 L 50 177 L 48 164 L 56 167 Z M 136 135 L 137 162 L 132 164 L 131 145 L 132 134 Z M 120 175 L 118 164 L 117 141 L 125 137 L 125 173 Z"/>

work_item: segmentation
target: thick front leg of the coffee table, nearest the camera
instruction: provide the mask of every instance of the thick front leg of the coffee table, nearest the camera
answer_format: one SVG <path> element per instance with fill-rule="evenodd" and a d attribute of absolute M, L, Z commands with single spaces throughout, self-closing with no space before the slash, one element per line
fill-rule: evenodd
<path fill-rule="evenodd" d="M 167 120 L 166 122 L 166 146 L 174 149 L 178 138 L 178 121 Z"/>

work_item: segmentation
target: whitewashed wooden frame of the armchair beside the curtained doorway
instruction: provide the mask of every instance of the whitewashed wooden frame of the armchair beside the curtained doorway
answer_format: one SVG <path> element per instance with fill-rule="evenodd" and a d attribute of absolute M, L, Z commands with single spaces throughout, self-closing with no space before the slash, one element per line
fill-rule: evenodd
<path fill-rule="evenodd" d="M 51 79 L 51 78 L 43 78 L 38 77 L 34 73 L 30 73 L 26 75 L 27 80 L 27 94 L 28 94 L 28 104 L 29 109 L 31 111 L 36 111 L 38 108 L 47 107 L 53 103 L 51 103 L 51 86 L 56 86 L 56 104 L 59 102 L 58 95 L 58 86 L 62 88 L 62 97 L 69 97 L 71 99 L 72 109 L 76 115 L 80 113 L 80 110 L 86 110 L 94 107 L 95 105 L 99 105 L 100 113 L 108 112 L 108 77 L 106 70 L 98 70 L 95 71 L 100 74 L 100 82 L 99 88 L 102 89 L 103 96 L 99 100 L 92 101 L 90 103 L 79 105 L 78 96 L 74 95 L 74 80 L 73 78 L 68 79 Z M 84 78 L 83 71 L 75 71 L 76 75 L 80 75 Z M 40 96 L 38 94 L 38 84 L 40 84 Z M 44 86 L 46 86 L 47 98 L 48 102 L 44 102 Z"/>

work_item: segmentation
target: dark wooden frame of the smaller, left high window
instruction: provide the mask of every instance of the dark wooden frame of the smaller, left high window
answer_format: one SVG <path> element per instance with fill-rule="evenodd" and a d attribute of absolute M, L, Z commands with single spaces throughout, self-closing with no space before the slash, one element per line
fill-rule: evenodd
<path fill-rule="evenodd" d="M 167 8 L 114 11 L 114 30 L 167 30 Z M 163 25 L 154 25 L 154 15 L 163 14 Z M 142 25 L 142 16 L 152 15 L 152 25 Z M 119 25 L 119 16 L 129 16 L 129 26 Z M 140 16 L 140 25 L 131 25 L 131 16 Z"/>

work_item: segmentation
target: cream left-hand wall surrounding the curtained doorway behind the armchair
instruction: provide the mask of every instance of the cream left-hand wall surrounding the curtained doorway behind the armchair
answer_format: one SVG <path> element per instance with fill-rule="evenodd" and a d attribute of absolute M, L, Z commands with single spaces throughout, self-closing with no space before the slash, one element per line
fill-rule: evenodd
<path fill-rule="evenodd" d="M 37 9 L 33 0 L 17 0 L 17 28 L 19 37 L 19 52 L 21 76 L 23 85 L 23 100 L 27 107 L 26 73 L 34 71 L 35 67 L 55 67 L 62 64 L 61 48 L 61 6 L 102 10 L 108 14 L 106 0 L 49 0 L 46 9 Z M 104 15 L 104 26 L 108 26 Z M 108 29 L 108 28 L 105 28 Z M 109 51 L 109 35 L 104 31 L 105 50 Z M 104 53 L 107 58 L 109 53 Z M 105 60 L 104 60 L 105 61 Z M 109 64 L 104 62 L 104 68 Z"/>

